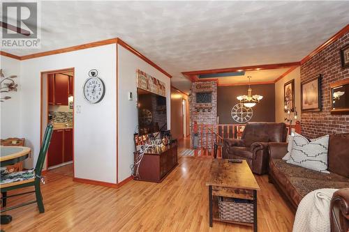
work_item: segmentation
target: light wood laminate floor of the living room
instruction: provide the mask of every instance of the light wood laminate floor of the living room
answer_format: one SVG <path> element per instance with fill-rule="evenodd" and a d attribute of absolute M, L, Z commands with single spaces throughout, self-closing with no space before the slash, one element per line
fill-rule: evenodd
<path fill-rule="evenodd" d="M 183 143 L 181 143 L 183 144 Z M 188 144 L 188 143 L 184 143 Z M 184 149 L 186 146 L 181 146 Z M 250 227 L 214 222 L 209 228 L 208 158 L 179 157 L 163 183 L 131 180 L 119 189 L 73 182 L 48 172 L 42 185 L 45 213 L 36 205 L 8 211 L 5 231 L 252 231 Z M 258 231 L 292 231 L 294 214 L 267 176 L 256 176 Z M 8 200 L 8 206 L 34 194 Z"/>

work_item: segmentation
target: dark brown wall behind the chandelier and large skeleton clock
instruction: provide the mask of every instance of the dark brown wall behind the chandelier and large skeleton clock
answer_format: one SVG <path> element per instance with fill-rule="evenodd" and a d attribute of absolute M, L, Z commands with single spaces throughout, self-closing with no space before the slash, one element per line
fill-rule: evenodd
<path fill-rule="evenodd" d="M 217 115 L 219 124 L 237 123 L 232 119 L 231 110 L 239 100 L 238 95 L 247 95 L 248 86 L 218 86 Z M 275 122 L 275 85 L 252 85 L 252 94 L 262 95 L 263 99 L 253 107 L 250 122 Z"/>

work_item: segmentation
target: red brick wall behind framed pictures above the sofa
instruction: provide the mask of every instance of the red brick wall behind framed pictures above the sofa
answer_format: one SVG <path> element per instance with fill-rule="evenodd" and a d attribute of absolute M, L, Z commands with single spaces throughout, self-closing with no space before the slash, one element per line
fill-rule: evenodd
<path fill-rule="evenodd" d="M 339 50 L 349 43 L 349 33 L 336 40 L 301 65 L 301 82 L 322 75 L 322 111 L 302 113 L 302 134 L 314 138 L 321 134 L 349 133 L 349 115 L 331 115 L 329 84 L 349 77 L 349 68 L 341 68 Z"/>

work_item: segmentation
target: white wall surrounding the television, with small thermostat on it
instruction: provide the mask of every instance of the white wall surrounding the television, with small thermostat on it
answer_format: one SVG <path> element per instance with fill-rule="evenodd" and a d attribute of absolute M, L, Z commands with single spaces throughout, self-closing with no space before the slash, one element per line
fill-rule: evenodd
<path fill-rule="evenodd" d="M 119 67 L 119 182 L 131 176 L 133 164 L 133 133 L 138 125 L 136 70 L 140 69 L 165 83 L 167 98 L 168 129 L 170 129 L 170 78 L 135 54 L 118 45 Z M 133 92 L 133 101 L 127 99 L 128 92 Z"/>

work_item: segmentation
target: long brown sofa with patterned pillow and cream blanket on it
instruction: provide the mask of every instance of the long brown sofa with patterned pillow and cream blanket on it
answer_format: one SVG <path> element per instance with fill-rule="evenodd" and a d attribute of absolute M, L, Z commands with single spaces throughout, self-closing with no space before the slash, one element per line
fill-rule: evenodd
<path fill-rule="evenodd" d="M 313 190 L 321 188 L 349 188 L 349 134 L 329 136 L 328 169 L 320 173 L 281 160 L 287 153 L 287 143 L 269 144 L 269 181 L 297 209 L 302 198 Z M 332 231 L 348 231 L 349 189 L 337 191 L 331 204 Z M 338 222 L 338 223 L 337 223 Z M 337 229 L 334 229 L 337 228 Z"/>

